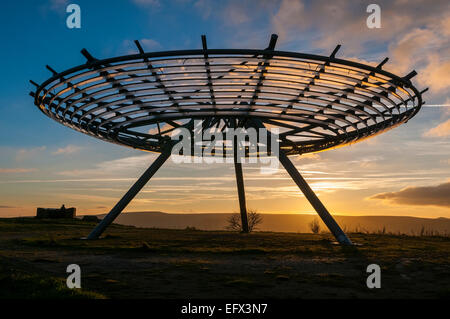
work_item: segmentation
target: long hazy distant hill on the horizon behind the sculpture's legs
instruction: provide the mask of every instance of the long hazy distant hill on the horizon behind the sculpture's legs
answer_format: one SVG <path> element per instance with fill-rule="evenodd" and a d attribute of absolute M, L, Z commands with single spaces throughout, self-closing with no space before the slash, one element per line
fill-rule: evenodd
<path fill-rule="evenodd" d="M 195 227 L 202 230 L 223 230 L 227 218 L 231 214 L 167 214 L 163 212 L 130 212 L 122 213 L 116 223 L 146 228 Z M 318 218 L 316 215 L 304 214 L 261 214 L 263 223 L 258 230 L 275 232 L 310 232 L 309 223 Z M 104 215 L 99 215 L 103 218 Z M 419 234 L 423 228 L 426 232 L 434 231 L 440 234 L 450 234 L 450 219 L 418 218 L 403 216 L 335 216 L 336 221 L 344 230 L 381 231 Z M 322 224 L 322 229 L 324 229 Z"/>

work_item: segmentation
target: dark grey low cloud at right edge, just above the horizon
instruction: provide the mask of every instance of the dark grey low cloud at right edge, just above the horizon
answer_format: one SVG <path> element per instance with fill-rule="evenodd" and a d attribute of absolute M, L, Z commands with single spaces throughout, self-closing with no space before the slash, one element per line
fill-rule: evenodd
<path fill-rule="evenodd" d="M 386 200 L 397 205 L 450 207 L 450 182 L 437 186 L 410 186 L 398 192 L 375 194 L 369 199 Z"/>

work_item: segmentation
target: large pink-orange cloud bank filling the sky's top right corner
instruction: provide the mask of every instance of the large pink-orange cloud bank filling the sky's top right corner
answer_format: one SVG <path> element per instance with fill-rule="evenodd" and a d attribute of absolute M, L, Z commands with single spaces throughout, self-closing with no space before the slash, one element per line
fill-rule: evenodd
<path fill-rule="evenodd" d="M 377 61 L 389 56 L 385 69 L 400 76 L 415 68 L 416 80 L 431 91 L 450 89 L 450 3 L 380 0 L 381 28 L 369 29 L 366 8 L 370 3 L 283 0 L 271 24 L 280 35 L 279 42 L 287 42 L 294 50 L 312 46 L 329 52 L 339 43 L 346 55 L 366 55 Z"/>

